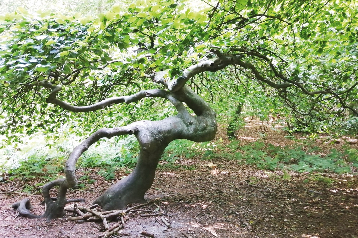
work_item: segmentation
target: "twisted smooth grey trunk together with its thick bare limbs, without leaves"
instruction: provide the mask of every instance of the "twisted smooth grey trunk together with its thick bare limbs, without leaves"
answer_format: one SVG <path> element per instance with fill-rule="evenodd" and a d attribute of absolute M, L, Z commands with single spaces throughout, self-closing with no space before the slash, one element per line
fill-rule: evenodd
<path fill-rule="evenodd" d="M 111 138 L 118 135 L 134 134 L 140 144 L 140 152 L 137 165 L 134 171 L 122 179 L 114 186 L 109 188 L 102 196 L 98 197 L 94 203 L 100 205 L 103 210 L 123 209 L 129 203 L 144 202 L 144 193 L 151 187 L 154 181 L 155 170 L 159 159 L 168 144 L 176 139 L 187 139 L 195 142 L 210 141 L 215 138 L 217 123 L 216 114 L 212 108 L 200 98 L 185 82 L 203 71 L 214 71 L 222 69 L 222 66 L 214 64 L 213 61 L 205 61 L 201 64 L 193 65 L 184 71 L 178 79 L 167 81 L 164 73 L 157 75 L 147 75 L 155 82 L 165 85 L 170 91 L 147 90 L 140 91 L 134 95 L 108 98 L 91 106 L 77 107 L 63 102 L 57 98 L 57 93 L 61 90 L 60 86 L 52 85 L 50 82 L 42 81 L 39 84 L 52 89 L 47 102 L 61 106 L 73 112 L 94 111 L 113 103 L 131 103 L 143 97 L 163 97 L 168 99 L 175 106 L 178 114 L 173 117 L 165 118 L 161 121 L 137 121 L 128 126 L 117 128 L 102 128 L 80 145 L 76 146 L 69 156 L 64 172 L 65 179 L 57 179 L 47 183 L 43 189 L 43 196 L 47 209 L 42 216 L 36 216 L 29 211 L 28 201 L 16 203 L 14 208 L 19 210 L 23 216 L 36 218 L 45 217 L 47 220 L 62 217 L 64 207 L 69 201 L 66 199 L 66 192 L 77 184 L 75 168 L 78 158 L 88 150 L 89 146 L 103 137 Z M 183 102 L 193 110 L 195 116 L 190 115 Z M 58 199 L 53 201 L 50 197 L 50 189 L 58 186 Z"/>

